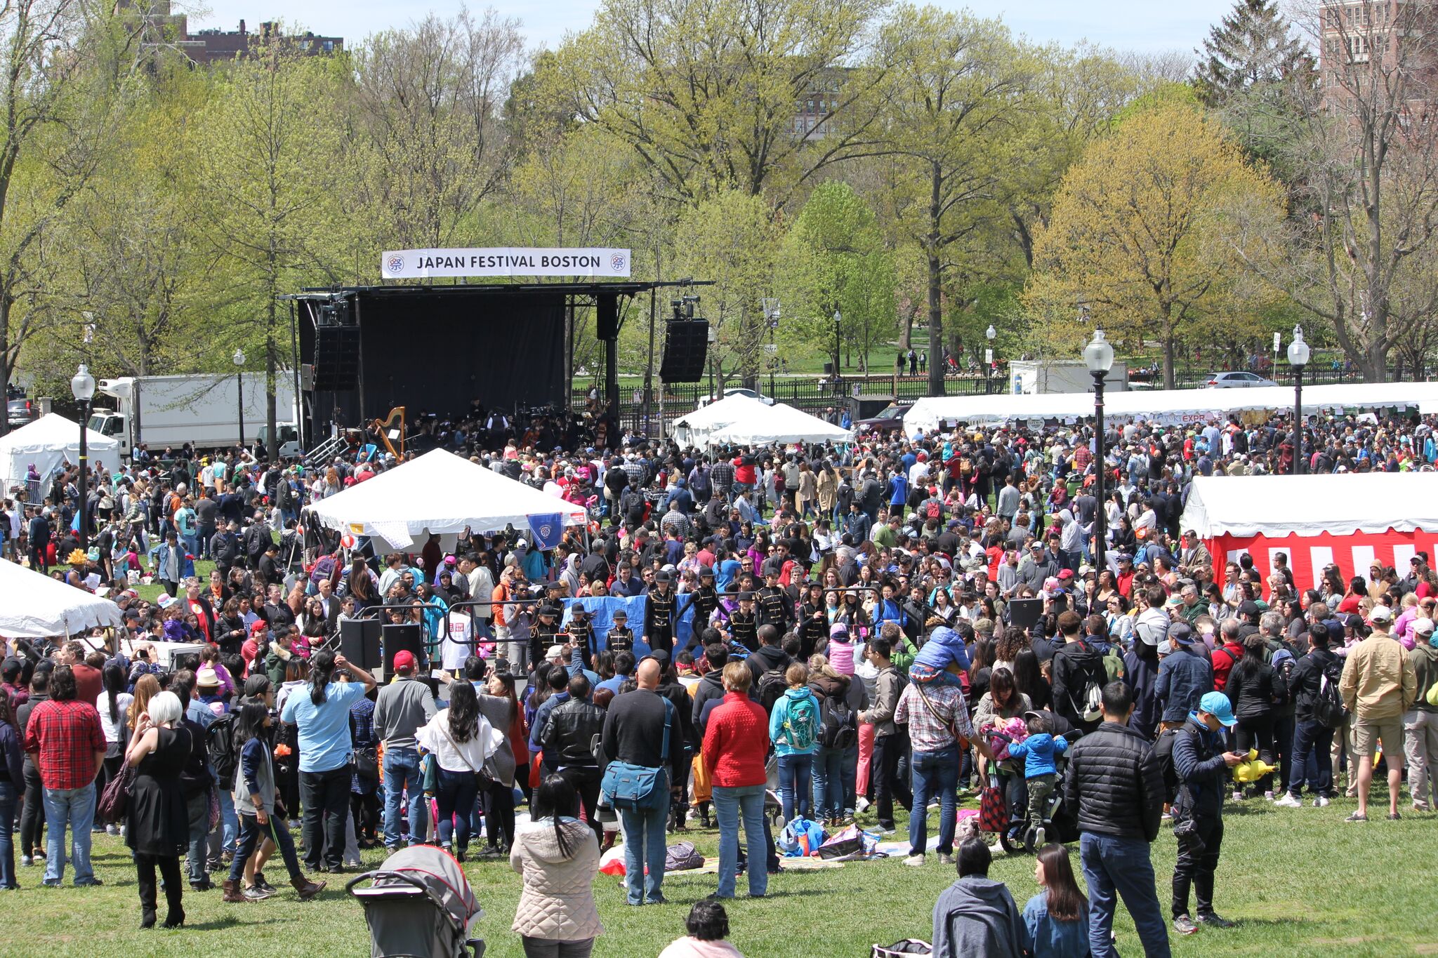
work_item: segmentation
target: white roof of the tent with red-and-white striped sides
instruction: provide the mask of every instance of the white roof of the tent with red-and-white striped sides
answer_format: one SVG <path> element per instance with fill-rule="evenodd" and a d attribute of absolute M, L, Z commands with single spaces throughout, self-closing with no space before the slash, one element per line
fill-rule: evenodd
<path fill-rule="evenodd" d="M 1199 475 L 1182 527 L 1202 539 L 1438 531 L 1438 473 Z"/>

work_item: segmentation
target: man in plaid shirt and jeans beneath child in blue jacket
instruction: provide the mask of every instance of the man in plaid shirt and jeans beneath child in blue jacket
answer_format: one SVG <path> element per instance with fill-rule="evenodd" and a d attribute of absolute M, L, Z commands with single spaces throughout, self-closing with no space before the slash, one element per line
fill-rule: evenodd
<path fill-rule="evenodd" d="M 985 757 L 992 757 L 992 753 L 974 734 L 963 689 L 959 688 L 958 676 L 952 674 L 942 674 L 939 681 L 922 685 L 909 682 L 894 708 L 894 724 L 909 727 L 909 743 L 913 747 L 909 758 L 909 771 L 913 777 L 909 857 L 903 863 L 913 868 L 923 865 L 925 847 L 929 845 L 929 822 L 925 810 L 929 799 L 938 796 L 939 863 L 953 865 L 953 824 L 959 804 L 959 766 L 963 760 L 958 740 L 961 737 L 969 740 Z"/>

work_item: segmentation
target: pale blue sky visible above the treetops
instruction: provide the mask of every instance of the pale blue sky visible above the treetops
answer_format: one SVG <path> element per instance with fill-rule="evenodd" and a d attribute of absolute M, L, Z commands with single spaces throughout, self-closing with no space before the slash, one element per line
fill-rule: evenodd
<path fill-rule="evenodd" d="M 1120 50 L 1163 52 L 1192 50 L 1208 27 L 1232 9 L 1232 0 L 971 0 L 968 4 L 938 0 L 939 6 L 968 6 L 981 16 L 1001 16 L 1015 33 L 1031 40 L 1076 43 L 1087 39 Z M 180 4 L 175 4 L 177 7 Z M 594 0 L 477 0 L 472 10 L 493 6 L 505 16 L 518 17 L 525 24 L 531 46 L 555 46 L 567 32 L 588 26 L 597 3 Z M 302 0 L 293 6 L 275 7 L 273 0 L 211 0 L 206 16 L 191 16 L 190 29 L 236 29 L 243 17 L 250 29 L 262 20 L 282 16 L 315 33 L 342 36 L 354 43 L 387 27 L 406 26 L 423 16 L 423 10 L 450 14 L 459 10 L 459 0 L 430 3 L 378 3 L 377 0 Z"/>

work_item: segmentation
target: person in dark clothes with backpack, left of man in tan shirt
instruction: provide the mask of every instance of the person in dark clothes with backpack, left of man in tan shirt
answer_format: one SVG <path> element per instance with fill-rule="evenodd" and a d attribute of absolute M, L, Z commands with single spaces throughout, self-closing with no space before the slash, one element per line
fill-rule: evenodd
<path fill-rule="evenodd" d="M 1293 698 L 1293 764 L 1286 783 L 1288 791 L 1274 801 L 1284 809 L 1303 807 L 1303 786 L 1313 793 L 1313 806 L 1322 809 L 1333 799 L 1333 733 L 1343 725 L 1347 710 L 1339 697 L 1343 659 L 1329 649 L 1332 633 L 1323 622 L 1309 626 L 1309 654 L 1294 662 L 1288 676 Z M 1310 757 L 1311 755 L 1311 757 Z"/>

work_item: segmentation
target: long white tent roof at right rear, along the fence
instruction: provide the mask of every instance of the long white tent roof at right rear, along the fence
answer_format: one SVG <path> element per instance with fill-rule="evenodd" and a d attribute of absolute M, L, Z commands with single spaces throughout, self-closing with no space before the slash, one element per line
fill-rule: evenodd
<path fill-rule="evenodd" d="M 1337 409 L 1380 409 L 1428 405 L 1438 408 L 1438 382 L 1352 382 L 1306 386 L 1304 412 Z M 1291 386 L 1252 389 L 1137 389 L 1104 395 L 1109 421 L 1143 418 L 1162 425 L 1205 422 L 1244 411 L 1293 411 Z M 905 429 L 933 431 L 952 422 L 1011 422 L 1058 419 L 1076 422 L 1093 415 L 1093 392 L 1045 395 L 930 396 L 919 399 L 905 415 Z"/>

